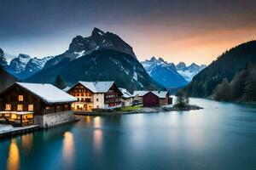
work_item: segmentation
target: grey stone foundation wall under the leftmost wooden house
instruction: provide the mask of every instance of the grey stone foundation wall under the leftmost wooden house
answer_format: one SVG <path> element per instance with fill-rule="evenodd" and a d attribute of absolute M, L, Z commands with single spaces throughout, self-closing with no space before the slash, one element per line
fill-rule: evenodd
<path fill-rule="evenodd" d="M 75 121 L 73 111 L 62 111 L 57 113 L 51 113 L 44 116 L 34 116 L 34 123 L 38 124 L 39 127 L 47 128 L 54 127 L 59 124 L 66 122 Z"/>

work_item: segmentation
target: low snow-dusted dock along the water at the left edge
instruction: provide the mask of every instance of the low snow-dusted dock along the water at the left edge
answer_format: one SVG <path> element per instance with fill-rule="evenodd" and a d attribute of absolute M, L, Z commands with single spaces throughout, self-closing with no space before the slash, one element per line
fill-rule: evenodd
<path fill-rule="evenodd" d="M 21 133 L 30 133 L 32 131 L 38 130 L 39 126 L 38 125 L 31 125 L 31 126 L 26 126 L 26 127 L 12 127 L 7 130 L 2 130 L 0 129 L 0 138 L 3 137 L 11 137 L 16 134 L 21 134 Z"/>

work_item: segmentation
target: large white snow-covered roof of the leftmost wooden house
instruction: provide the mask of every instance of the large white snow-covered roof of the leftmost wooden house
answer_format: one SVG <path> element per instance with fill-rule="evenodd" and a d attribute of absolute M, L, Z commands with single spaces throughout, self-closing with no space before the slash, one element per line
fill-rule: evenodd
<path fill-rule="evenodd" d="M 52 84 L 16 82 L 22 88 L 43 99 L 47 103 L 62 103 L 77 101 L 75 97 L 67 94 Z"/>

